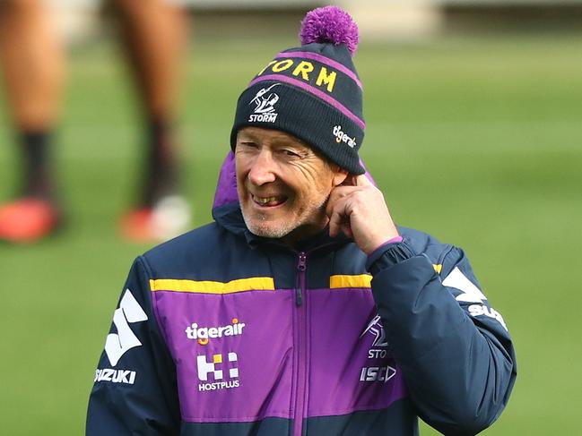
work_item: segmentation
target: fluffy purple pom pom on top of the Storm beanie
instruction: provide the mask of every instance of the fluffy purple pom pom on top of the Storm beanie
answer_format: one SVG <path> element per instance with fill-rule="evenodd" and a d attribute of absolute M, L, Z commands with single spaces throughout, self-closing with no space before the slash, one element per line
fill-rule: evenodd
<path fill-rule="evenodd" d="M 358 25 L 337 6 L 319 7 L 301 21 L 300 40 L 302 46 L 312 42 L 345 44 L 353 56 L 358 49 Z"/>

